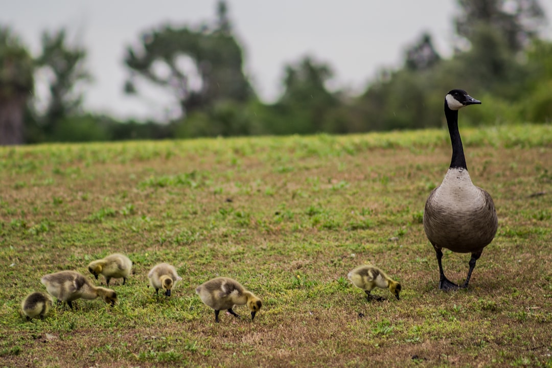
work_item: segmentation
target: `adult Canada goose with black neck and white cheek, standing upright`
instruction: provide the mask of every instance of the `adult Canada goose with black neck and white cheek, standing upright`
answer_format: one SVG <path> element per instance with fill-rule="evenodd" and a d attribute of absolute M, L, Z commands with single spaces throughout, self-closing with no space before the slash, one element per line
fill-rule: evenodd
<path fill-rule="evenodd" d="M 424 231 L 437 253 L 441 290 L 468 287 L 477 259 L 481 257 L 483 248 L 495 237 L 498 228 L 491 196 L 471 182 L 458 131 L 458 110 L 473 104 L 481 102 L 462 89 L 453 89 L 445 96 L 444 110 L 452 143 L 452 159 L 443 183 L 429 194 L 423 212 Z M 442 248 L 457 253 L 471 253 L 464 285 L 454 284 L 445 277 L 441 264 Z"/>

